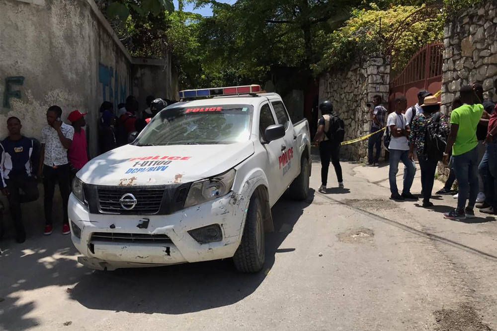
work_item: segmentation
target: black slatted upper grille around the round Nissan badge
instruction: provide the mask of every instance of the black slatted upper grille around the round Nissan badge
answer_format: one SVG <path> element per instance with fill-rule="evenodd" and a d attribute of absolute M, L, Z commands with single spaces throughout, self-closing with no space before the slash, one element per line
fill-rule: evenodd
<path fill-rule="evenodd" d="M 100 211 L 111 214 L 156 214 L 161 209 L 161 202 L 164 196 L 164 189 L 115 190 L 100 187 L 97 189 L 97 192 Z M 119 202 L 121 197 L 126 193 L 132 194 L 137 200 L 135 207 L 131 210 L 124 209 Z"/>

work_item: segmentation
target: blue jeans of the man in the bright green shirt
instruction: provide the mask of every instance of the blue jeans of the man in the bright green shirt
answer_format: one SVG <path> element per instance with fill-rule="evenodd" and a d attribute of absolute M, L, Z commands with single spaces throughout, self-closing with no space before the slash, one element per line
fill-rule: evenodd
<path fill-rule="evenodd" d="M 452 156 L 454 173 L 459 184 L 457 209 L 463 211 L 469 197 L 468 207 L 473 208 L 478 196 L 478 146 L 461 155 Z"/>

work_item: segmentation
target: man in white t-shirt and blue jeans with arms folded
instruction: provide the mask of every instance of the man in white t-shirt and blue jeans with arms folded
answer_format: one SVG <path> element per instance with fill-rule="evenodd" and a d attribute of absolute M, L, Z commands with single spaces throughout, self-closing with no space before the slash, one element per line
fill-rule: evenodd
<path fill-rule="evenodd" d="M 391 198 L 394 200 L 414 199 L 417 197 L 411 194 L 411 186 L 413 185 L 416 166 L 409 159 L 409 141 L 408 137 L 411 134 L 409 122 L 402 112 L 406 109 L 407 100 L 404 96 L 398 97 L 394 101 L 395 112 L 390 114 L 387 119 L 387 128 L 391 134 L 390 144 L 390 170 L 388 178 L 390 181 Z M 406 166 L 406 174 L 404 176 L 404 188 L 402 195 L 397 189 L 397 173 L 399 172 L 399 162 L 402 161 Z"/>

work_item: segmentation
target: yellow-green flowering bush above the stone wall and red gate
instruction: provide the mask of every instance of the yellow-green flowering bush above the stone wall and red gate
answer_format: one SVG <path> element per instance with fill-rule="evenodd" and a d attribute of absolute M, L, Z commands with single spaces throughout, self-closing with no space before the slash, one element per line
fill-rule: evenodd
<path fill-rule="evenodd" d="M 330 34 L 318 34 L 317 43 L 324 52 L 321 61 L 313 66 L 315 72 L 343 68 L 361 58 L 384 54 L 385 42 L 419 8 L 398 5 L 381 10 L 372 3 L 370 9 L 352 10 L 352 17 L 343 27 Z M 442 38 L 443 21 L 440 18 L 425 19 L 406 26 L 393 47 L 392 69 L 402 69 L 422 46 Z"/>

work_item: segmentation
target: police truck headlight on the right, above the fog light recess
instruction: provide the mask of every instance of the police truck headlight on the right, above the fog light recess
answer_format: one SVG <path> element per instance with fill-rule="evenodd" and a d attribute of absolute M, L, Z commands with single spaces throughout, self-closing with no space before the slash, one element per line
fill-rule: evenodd
<path fill-rule="evenodd" d="M 235 174 L 235 169 L 231 169 L 222 175 L 194 182 L 190 187 L 190 191 L 188 191 L 185 208 L 228 194 L 235 181 Z"/>

